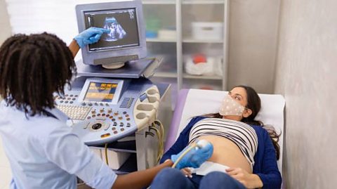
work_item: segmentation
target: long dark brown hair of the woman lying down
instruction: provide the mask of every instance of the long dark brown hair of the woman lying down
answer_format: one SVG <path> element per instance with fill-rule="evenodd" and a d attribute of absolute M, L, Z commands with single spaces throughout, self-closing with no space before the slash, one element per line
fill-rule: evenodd
<path fill-rule="evenodd" d="M 276 150 L 276 157 L 277 159 L 279 159 L 279 144 L 277 142 L 279 141 L 279 136 L 281 136 L 281 133 L 277 134 L 273 126 L 270 126 L 270 125 L 265 126 L 263 122 L 255 120 L 256 115 L 258 115 L 258 112 L 260 112 L 260 109 L 261 109 L 261 100 L 260 100 L 260 97 L 258 96 L 258 93 L 256 93 L 256 91 L 250 86 L 239 85 L 239 86 L 234 86 L 233 88 L 235 87 L 241 87 L 246 90 L 246 93 L 247 93 L 246 107 L 249 108 L 252 112 L 251 115 L 249 115 L 249 117 L 242 118 L 241 122 L 244 122 L 250 125 L 263 126 L 263 128 L 267 130 L 270 138 L 272 139 L 272 144 L 274 145 L 274 148 Z M 220 115 L 219 113 L 207 114 L 204 116 L 214 117 L 214 118 L 223 118 L 223 116 Z"/>

